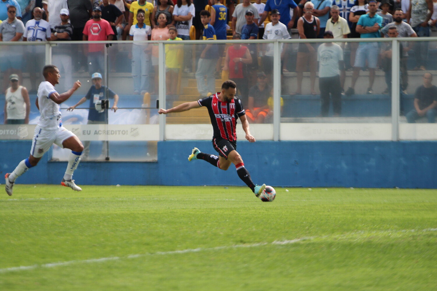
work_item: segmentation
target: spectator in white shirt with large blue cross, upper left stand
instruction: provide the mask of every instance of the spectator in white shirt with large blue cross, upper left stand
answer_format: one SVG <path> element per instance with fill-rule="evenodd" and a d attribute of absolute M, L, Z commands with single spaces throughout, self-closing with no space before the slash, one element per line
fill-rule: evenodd
<path fill-rule="evenodd" d="M 52 31 L 50 24 L 42 19 L 42 9 L 33 9 L 34 19 L 26 23 L 23 33 L 23 41 L 49 41 Z M 31 83 L 31 94 L 36 94 L 39 69 L 44 65 L 45 47 L 44 45 L 26 46 L 27 69 Z"/>

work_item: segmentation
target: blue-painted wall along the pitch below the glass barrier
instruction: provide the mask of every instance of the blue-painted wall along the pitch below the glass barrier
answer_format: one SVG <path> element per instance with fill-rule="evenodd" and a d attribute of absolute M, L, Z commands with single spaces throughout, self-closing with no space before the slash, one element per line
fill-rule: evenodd
<path fill-rule="evenodd" d="M 2 175 L 28 156 L 30 146 L 30 141 L 0 141 Z M 78 185 L 242 185 L 232 166 L 222 171 L 205 161 L 188 162 L 194 146 L 215 154 L 208 141 L 162 141 L 157 162 L 83 162 L 74 178 Z M 240 141 L 237 150 L 258 184 L 437 188 L 433 141 Z M 65 168 L 66 162 L 46 155 L 17 183 L 58 184 Z"/>

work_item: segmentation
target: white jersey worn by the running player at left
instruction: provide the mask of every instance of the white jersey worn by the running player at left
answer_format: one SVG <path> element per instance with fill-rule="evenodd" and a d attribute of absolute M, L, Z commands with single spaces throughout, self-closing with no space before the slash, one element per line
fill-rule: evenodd
<path fill-rule="evenodd" d="M 39 121 L 38 126 L 43 129 L 55 129 L 62 125 L 59 104 L 50 99 L 50 94 L 57 92 L 52 83 L 41 82 L 38 87 Z"/>

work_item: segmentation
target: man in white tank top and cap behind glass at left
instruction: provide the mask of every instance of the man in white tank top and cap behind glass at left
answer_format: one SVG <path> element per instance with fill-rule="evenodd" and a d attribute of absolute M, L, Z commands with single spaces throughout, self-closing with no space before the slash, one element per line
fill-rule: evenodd
<path fill-rule="evenodd" d="M 10 87 L 5 92 L 4 124 L 28 124 L 30 99 L 26 87 L 20 86 L 18 75 L 9 76 Z"/>

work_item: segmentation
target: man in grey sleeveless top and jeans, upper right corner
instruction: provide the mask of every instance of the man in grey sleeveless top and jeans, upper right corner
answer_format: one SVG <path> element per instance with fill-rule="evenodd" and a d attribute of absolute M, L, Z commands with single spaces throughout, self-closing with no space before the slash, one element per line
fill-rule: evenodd
<path fill-rule="evenodd" d="M 410 0 L 411 5 L 407 14 L 407 22 L 413 27 L 418 37 L 429 37 L 430 26 L 428 21 L 433 15 L 432 0 Z M 428 41 L 417 41 L 414 45 L 416 55 L 415 70 L 426 70 L 428 60 Z"/>

